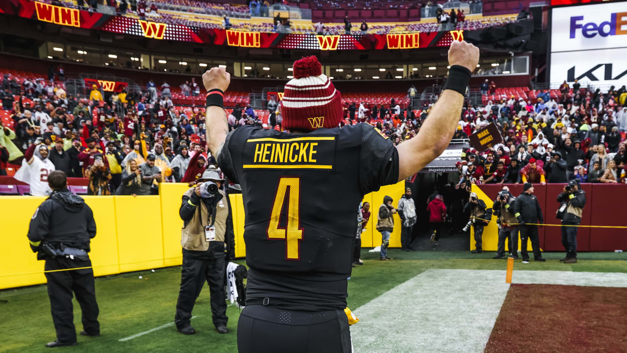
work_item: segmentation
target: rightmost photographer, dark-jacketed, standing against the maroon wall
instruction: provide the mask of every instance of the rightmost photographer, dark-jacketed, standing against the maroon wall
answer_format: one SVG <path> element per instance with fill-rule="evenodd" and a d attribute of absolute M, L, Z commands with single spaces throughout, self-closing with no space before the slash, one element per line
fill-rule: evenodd
<path fill-rule="evenodd" d="M 586 192 L 581 190 L 579 180 L 571 180 L 564 191 L 557 196 L 561 206 L 557 210 L 557 218 L 562 220 L 562 245 L 566 249 L 566 258 L 562 263 L 577 262 L 577 227 L 581 223 L 581 215 L 586 205 Z"/>

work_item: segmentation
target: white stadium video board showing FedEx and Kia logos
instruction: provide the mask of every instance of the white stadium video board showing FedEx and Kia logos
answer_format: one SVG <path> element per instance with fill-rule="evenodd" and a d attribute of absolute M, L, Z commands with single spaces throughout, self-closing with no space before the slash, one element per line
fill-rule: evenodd
<path fill-rule="evenodd" d="M 620 87 L 626 75 L 627 3 L 552 9 L 551 82 Z"/>

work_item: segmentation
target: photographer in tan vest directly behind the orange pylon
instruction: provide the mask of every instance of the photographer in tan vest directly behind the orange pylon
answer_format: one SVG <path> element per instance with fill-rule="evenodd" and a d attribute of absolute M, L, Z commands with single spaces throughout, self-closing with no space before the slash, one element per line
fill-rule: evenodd
<path fill-rule="evenodd" d="M 494 201 L 492 209 L 498 217 L 500 229 L 498 231 L 497 256 L 493 259 L 505 258 L 505 240 L 508 239 L 510 253 L 514 259 L 518 259 L 518 227 L 514 225 L 518 221 L 514 215 L 516 198 L 508 190 L 501 190 Z"/>

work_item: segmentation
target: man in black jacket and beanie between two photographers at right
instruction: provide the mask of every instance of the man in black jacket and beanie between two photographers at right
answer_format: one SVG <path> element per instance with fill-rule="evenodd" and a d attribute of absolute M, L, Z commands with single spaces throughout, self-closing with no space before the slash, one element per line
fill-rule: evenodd
<path fill-rule="evenodd" d="M 516 204 L 514 205 L 514 215 L 520 225 L 520 254 L 522 254 L 522 263 L 529 263 L 527 239 L 531 240 L 531 247 L 534 249 L 534 260 L 544 262 L 546 259 L 542 258 L 542 254 L 540 253 L 538 226 L 535 225 L 544 222 L 542 210 L 540 210 L 538 198 L 534 196 L 534 185 L 532 185 L 532 183 L 524 183 L 522 190 L 523 192 L 516 198 Z"/>

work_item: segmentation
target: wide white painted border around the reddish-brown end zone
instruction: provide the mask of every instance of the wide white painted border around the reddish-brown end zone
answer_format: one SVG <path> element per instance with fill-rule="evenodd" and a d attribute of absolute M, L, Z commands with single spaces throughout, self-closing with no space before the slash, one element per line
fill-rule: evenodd
<path fill-rule="evenodd" d="M 627 287 L 627 273 L 519 269 L 512 282 Z M 505 271 L 429 269 L 354 310 L 354 351 L 483 352 L 508 289 Z"/>

